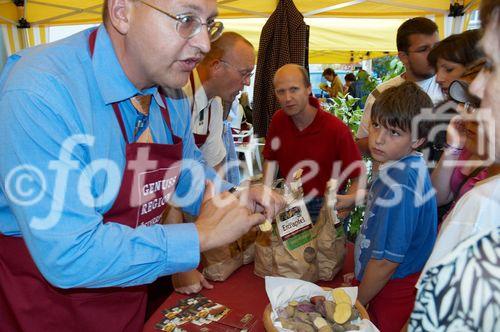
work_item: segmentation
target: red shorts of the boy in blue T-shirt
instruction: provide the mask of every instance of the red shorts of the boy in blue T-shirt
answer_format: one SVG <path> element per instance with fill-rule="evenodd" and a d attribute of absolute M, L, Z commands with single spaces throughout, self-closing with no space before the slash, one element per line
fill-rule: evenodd
<path fill-rule="evenodd" d="M 404 278 L 391 279 L 370 301 L 367 308 L 370 320 L 381 332 L 399 332 L 410 318 L 420 272 Z M 353 282 L 359 285 L 359 281 Z"/>

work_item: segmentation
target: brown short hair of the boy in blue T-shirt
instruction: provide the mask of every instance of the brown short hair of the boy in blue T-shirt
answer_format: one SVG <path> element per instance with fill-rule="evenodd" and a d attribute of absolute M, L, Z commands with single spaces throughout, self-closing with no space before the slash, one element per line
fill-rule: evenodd
<path fill-rule="evenodd" d="M 411 123 L 423 108 L 432 108 L 432 100 L 416 83 L 406 81 L 384 90 L 372 106 L 371 121 L 388 128 L 411 132 Z M 417 138 L 427 138 L 432 123 L 418 124 Z"/>

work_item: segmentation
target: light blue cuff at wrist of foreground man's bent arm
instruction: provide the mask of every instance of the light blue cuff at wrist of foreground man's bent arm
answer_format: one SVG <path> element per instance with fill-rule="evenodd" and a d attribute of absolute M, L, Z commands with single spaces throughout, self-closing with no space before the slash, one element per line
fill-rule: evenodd
<path fill-rule="evenodd" d="M 166 274 L 195 269 L 200 262 L 200 241 L 193 223 L 165 225 Z"/>

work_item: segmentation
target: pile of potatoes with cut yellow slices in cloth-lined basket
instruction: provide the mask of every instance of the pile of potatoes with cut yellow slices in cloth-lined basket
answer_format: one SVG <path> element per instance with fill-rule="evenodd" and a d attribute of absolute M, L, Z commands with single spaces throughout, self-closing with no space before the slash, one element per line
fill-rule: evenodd
<path fill-rule="evenodd" d="M 360 318 L 343 289 L 332 290 L 333 301 L 324 296 L 313 296 L 309 301 L 291 301 L 278 310 L 278 318 L 285 329 L 299 332 L 344 332 L 359 330 L 352 321 Z"/>

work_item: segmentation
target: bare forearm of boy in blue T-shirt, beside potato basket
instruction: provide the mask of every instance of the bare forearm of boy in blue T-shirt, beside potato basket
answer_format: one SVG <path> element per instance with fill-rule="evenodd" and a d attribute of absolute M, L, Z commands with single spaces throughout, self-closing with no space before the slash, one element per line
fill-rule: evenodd
<path fill-rule="evenodd" d="M 363 305 L 370 302 L 391 279 L 399 264 L 386 259 L 370 259 L 358 287 L 358 300 Z"/>

